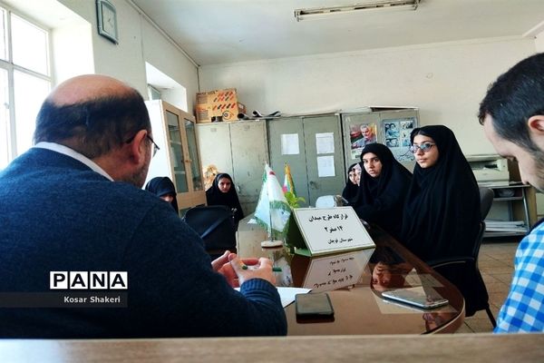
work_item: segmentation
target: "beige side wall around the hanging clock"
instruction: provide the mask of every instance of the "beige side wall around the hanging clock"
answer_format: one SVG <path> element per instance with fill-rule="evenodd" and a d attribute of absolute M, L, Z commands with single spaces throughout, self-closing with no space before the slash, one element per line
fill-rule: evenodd
<path fill-rule="evenodd" d="M 92 49 L 94 73 L 119 78 L 131 84 L 146 97 L 145 62 L 149 62 L 163 74 L 168 74 L 174 81 L 187 88 L 189 113 L 193 113 L 193 98 L 199 87 L 197 67 L 127 1 L 110 0 L 117 10 L 119 44 L 112 44 L 98 34 L 96 5 L 93 0 L 58 1 L 89 23 L 90 34 L 82 34 L 81 40 Z M 77 39 L 73 39 L 73 44 L 77 44 L 76 42 Z M 70 47 L 67 47 L 59 58 L 66 63 L 71 59 L 78 60 L 78 54 L 70 52 Z M 67 77 L 73 74 L 61 74 L 59 78 L 64 75 Z"/>

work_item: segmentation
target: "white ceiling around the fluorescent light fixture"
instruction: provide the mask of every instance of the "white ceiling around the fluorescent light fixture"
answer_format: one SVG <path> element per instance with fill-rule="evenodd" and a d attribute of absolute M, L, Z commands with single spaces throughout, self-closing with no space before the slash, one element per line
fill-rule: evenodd
<path fill-rule="evenodd" d="M 416 11 L 368 12 L 301 22 L 293 15 L 296 8 L 365 1 L 128 1 L 140 7 L 200 65 L 530 36 L 535 27 L 544 30 L 544 0 L 422 0 Z"/>

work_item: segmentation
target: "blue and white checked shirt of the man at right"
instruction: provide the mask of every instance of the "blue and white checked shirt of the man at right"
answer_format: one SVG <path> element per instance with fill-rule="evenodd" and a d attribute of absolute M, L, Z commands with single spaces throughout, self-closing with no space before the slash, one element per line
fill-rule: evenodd
<path fill-rule="evenodd" d="M 495 333 L 544 331 L 544 223 L 520 242 Z"/>

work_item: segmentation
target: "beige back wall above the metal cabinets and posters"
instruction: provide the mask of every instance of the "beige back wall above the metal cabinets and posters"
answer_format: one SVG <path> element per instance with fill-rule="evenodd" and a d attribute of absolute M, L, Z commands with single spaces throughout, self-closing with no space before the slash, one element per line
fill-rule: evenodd
<path fill-rule="evenodd" d="M 236 87 L 248 112 L 310 113 L 415 106 L 421 124 L 452 128 L 463 152 L 494 152 L 476 113 L 489 83 L 536 51 L 533 39 L 425 44 L 201 67 L 200 89 Z"/>

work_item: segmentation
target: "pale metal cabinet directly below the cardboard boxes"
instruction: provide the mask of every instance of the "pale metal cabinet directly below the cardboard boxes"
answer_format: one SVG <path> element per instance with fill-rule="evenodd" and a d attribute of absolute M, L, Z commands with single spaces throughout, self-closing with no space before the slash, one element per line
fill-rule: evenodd
<path fill-rule="evenodd" d="M 266 123 L 197 123 L 197 139 L 202 165 L 228 172 L 244 213 L 255 211 L 268 162 Z"/>

